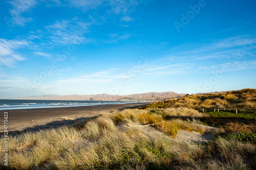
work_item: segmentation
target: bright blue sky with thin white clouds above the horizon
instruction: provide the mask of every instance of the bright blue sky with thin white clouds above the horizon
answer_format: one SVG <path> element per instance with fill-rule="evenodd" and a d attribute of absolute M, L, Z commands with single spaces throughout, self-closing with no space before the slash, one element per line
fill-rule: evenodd
<path fill-rule="evenodd" d="M 0 99 L 256 88 L 256 1 L 0 2 Z"/>

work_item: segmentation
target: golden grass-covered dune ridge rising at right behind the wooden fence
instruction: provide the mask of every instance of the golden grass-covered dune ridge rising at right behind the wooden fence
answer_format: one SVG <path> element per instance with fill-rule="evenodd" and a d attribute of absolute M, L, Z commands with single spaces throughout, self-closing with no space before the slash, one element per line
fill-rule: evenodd
<path fill-rule="evenodd" d="M 205 94 L 186 94 L 178 99 L 156 101 L 141 108 L 188 107 L 188 108 L 255 108 L 256 89 L 242 89 Z"/>

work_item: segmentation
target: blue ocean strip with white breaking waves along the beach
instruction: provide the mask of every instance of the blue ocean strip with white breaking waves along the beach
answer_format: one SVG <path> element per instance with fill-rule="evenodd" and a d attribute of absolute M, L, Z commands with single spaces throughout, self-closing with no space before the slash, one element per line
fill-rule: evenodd
<path fill-rule="evenodd" d="M 2 100 L 0 99 L 0 110 L 14 109 L 37 109 L 56 107 L 91 106 L 102 104 L 127 104 L 139 103 L 132 101 L 62 101 L 62 100 Z"/>

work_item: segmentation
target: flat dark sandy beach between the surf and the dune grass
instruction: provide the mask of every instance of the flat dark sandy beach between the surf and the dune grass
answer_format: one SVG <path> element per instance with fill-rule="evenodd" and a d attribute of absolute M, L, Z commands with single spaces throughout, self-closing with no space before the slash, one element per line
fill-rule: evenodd
<path fill-rule="evenodd" d="M 8 112 L 8 132 L 11 135 L 17 135 L 26 131 L 58 128 L 63 125 L 75 125 L 81 120 L 96 118 L 103 112 L 136 108 L 147 104 L 149 103 L 1 110 L 1 115 L 4 118 L 4 112 Z M 0 127 L 0 133 L 3 132 L 4 124 Z"/>

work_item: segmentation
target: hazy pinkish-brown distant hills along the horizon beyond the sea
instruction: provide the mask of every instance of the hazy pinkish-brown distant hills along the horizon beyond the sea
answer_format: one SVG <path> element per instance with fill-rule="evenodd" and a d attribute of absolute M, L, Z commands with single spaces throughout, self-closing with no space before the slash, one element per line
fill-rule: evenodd
<path fill-rule="evenodd" d="M 178 94 L 172 91 L 168 92 L 148 92 L 141 94 L 131 95 L 110 95 L 110 94 L 95 94 L 95 95 L 38 95 L 28 96 L 21 98 L 9 98 L 9 99 L 23 99 L 23 100 L 81 100 L 81 101 L 159 101 L 166 99 L 179 98 L 185 94 Z"/>

